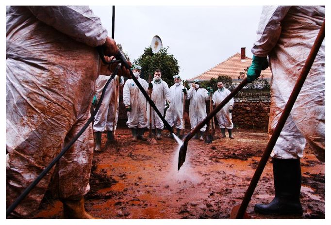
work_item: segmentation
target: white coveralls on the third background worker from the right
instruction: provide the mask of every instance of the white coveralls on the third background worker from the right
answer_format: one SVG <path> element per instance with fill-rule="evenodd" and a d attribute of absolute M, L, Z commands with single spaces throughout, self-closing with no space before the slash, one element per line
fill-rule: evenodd
<path fill-rule="evenodd" d="M 170 127 L 176 126 L 177 129 L 182 129 L 183 125 L 183 82 L 176 86 L 175 84 L 169 88 L 170 104 L 169 109 L 165 113 L 165 120 Z M 186 88 L 185 88 L 186 89 Z M 187 89 L 186 89 L 187 91 Z M 187 96 L 186 96 L 187 97 Z M 161 112 L 162 113 L 162 112 Z"/>

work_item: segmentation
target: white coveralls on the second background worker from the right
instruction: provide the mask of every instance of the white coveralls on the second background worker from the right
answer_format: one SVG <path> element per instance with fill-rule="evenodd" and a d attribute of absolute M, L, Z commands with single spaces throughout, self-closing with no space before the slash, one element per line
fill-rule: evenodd
<path fill-rule="evenodd" d="M 207 116 L 206 101 L 209 100 L 209 94 L 204 88 L 196 90 L 191 87 L 187 99 L 190 99 L 190 123 L 191 129 L 194 129 Z M 200 131 L 206 131 L 206 127 L 207 125 L 203 126 Z"/>

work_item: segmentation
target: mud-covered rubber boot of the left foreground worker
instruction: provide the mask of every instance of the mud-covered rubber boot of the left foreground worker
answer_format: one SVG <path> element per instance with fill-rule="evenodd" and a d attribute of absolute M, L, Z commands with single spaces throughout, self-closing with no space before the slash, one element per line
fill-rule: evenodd
<path fill-rule="evenodd" d="M 65 219 L 95 219 L 85 211 L 84 198 L 78 200 L 61 200 L 63 203 L 63 217 Z"/>

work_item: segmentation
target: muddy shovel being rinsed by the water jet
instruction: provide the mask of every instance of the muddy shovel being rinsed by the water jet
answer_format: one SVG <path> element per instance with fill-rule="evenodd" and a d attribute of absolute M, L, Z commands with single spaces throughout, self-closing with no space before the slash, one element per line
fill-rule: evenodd
<path fill-rule="evenodd" d="M 179 156 L 178 156 L 178 170 L 182 167 L 182 164 L 185 161 L 186 158 L 186 151 L 187 151 L 187 143 L 191 138 L 203 127 L 205 126 L 209 120 L 211 120 L 218 111 L 220 111 L 230 100 L 233 96 L 235 96 L 246 84 L 248 83 L 247 78 L 243 80 L 231 93 L 228 95 L 224 100 L 215 107 L 215 109 L 210 112 L 198 125 L 195 127 L 191 132 L 189 132 L 184 140 L 183 144 L 179 150 Z"/>

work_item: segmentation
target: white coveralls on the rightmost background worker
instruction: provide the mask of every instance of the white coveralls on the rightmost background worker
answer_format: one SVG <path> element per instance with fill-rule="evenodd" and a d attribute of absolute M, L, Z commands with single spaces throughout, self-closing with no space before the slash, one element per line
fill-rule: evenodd
<path fill-rule="evenodd" d="M 223 87 L 221 90 L 217 89 L 217 91 L 213 95 L 213 105 L 217 106 L 219 105 L 228 95 L 231 94 L 231 91 L 229 89 L 226 89 Z M 223 108 L 217 112 L 216 118 L 218 121 L 219 128 L 226 128 L 226 129 L 232 129 L 233 123 L 232 123 L 232 113 L 229 112 L 230 106 L 233 107 L 233 97 L 230 99 L 230 101 L 223 106 Z"/>

